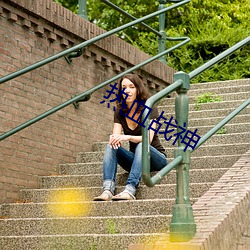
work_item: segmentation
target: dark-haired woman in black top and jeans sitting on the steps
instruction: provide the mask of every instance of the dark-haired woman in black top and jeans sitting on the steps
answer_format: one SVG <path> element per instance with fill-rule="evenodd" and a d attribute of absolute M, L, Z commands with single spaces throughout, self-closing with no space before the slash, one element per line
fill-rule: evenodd
<path fill-rule="evenodd" d="M 113 134 L 106 146 L 103 160 L 103 193 L 94 201 L 133 200 L 142 176 L 142 126 L 141 116 L 148 98 L 147 89 L 136 74 L 123 76 L 118 84 L 117 108 L 114 113 Z M 138 109 L 138 110 L 137 110 Z M 131 115 L 132 114 L 132 115 Z M 133 119 L 129 118 L 133 117 Z M 150 124 L 158 118 L 158 110 L 153 107 L 150 113 Z M 138 120 L 140 120 L 138 122 Z M 156 123 L 150 131 L 150 164 L 151 171 L 159 171 L 168 163 L 165 150 L 155 134 Z M 123 130 L 123 133 L 122 133 Z M 129 141 L 130 150 L 122 147 L 122 142 Z M 114 195 L 117 164 L 128 173 L 123 192 Z"/>

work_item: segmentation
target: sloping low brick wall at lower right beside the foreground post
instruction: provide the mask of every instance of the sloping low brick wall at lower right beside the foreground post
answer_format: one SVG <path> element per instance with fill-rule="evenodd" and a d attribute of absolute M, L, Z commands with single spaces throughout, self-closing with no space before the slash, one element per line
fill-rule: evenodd
<path fill-rule="evenodd" d="M 193 205 L 197 233 L 187 243 L 162 239 L 129 250 L 250 249 L 250 150 Z"/>

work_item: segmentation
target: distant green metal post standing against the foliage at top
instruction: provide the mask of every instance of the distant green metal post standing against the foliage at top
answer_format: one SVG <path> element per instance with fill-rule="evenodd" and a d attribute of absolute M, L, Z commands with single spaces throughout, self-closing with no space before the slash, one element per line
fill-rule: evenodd
<path fill-rule="evenodd" d="M 159 8 L 158 10 L 165 8 L 165 3 L 167 0 L 159 0 Z M 166 13 L 162 13 L 159 15 L 159 32 L 161 33 L 161 36 L 158 37 L 158 53 L 161 53 L 166 49 L 166 32 L 165 32 L 165 21 L 166 21 Z M 163 63 L 167 63 L 166 56 L 162 56 L 159 58 L 159 61 Z"/>

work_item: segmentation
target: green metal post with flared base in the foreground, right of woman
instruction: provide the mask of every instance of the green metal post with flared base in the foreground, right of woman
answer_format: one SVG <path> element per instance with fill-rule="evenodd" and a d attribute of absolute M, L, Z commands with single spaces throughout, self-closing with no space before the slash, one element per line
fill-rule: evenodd
<path fill-rule="evenodd" d="M 178 122 L 177 133 L 181 127 L 188 127 L 188 97 L 187 91 L 190 88 L 188 74 L 177 72 L 174 74 L 174 81 L 181 79 L 183 84 L 177 90 L 175 99 L 175 115 Z M 184 152 L 185 145 L 178 138 L 178 148 L 175 150 L 175 157 L 181 155 L 183 160 L 176 167 L 176 203 L 173 208 L 173 215 L 170 224 L 170 241 L 189 241 L 196 233 L 193 209 L 189 196 L 189 167 L 190 150 Z"/>

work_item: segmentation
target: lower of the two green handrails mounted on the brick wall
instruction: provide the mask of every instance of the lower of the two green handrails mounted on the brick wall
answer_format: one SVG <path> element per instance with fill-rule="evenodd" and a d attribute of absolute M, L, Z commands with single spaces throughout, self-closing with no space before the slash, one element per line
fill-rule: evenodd
<path fill-rule="evenodd" d="M 20 130 L 22 130 L 24 128 L 27 128 L 28 126 L 30 126 L 30 125 L 32 125 L 32 124 L 34 124 L 34 123 L 36 123 L 36 122 L 44 119 L 45 117 L 47 117 L 47 116 L 49 116 L 49 115 L 57 112 L 58 110 L 60 110 L 62 108 L 65 108 L 66 106 L 68 106 L 68 105 L 70 105 L 70 104 L 72 104 L 74 102 L 77 102 L 79 100 L 81 100 L 81 101 L 82 100 L 89 100 L 91 94 L 93 92 L 95 92 L 96 90 L 107 86 L 108 84 L 110 84 L 110 83 L 114 82 L 115 80 L 121 78 L 125 74 L 128 74 L 128 73 L 130 73 L 130 72 L 132 72 L 134 70 L 137 70 L 137 69 L 141 68 L 142 66 L 144 66 L 144 65 L 146 65 L 146 64 L 148 64 L 148 63 L 150 63 L 150 62 L 152 62 L 152 61 L 160 58 L 161 56 L 163 56 L 163 55 L 165 55 L 165 54 L 167 54 L 167 53 L 169 53 L 169 52 L 177 49 L 178 47 L 180 47 L 180 46 L 188 43 L 189 41 L 190 41 L 190 39 L 186 38 L 184 41 L 182 41 L 181 43 L 173 46 L 172 48 L 167 49 L 164 52 L 162 52 L 160 54 L 157 54 L 157 55 L 155 55 L 155 56 L 147 59 L 146 61 L 143 61 L 143 62 L 135 65 L 134 67 L 132 67 L 132 68 L 130 68 L 130 69 L 128 69 L 128 70 L 126 70 L 126 71 L 118 74 L 117 76 L 115 76 L 115 77 L 113 77 L 113 78 L 111 78 L 111 79 L 109 79 L 109 80 L 107 80 L 107 81 L 105 81 L 105 82 L 103 82 L 103 83 L 101 83 L 101 84 L 99 84 L 99 85 L 97 85 L 97 86 L 95 86 L 95 87 L 93 87 L 93 88 L 91 88 L 91 89 L 89 89 L 89 90 L 87 90 L 87 91 L 85 91 L 85 92 L 83 92 L 83 93 L 75 96 L 75 97 L 73 97 L 72 99 L 70 99 L 70 100 L 68 100 L 68 101 L 66 101 L 64 103 L 61 103 L 60 105 L 58 105 L 58 106 L 56 106 L 56 107 L 54 107 L 54 108 L 46 111 L 45 113 L 43 113 L 41 115 L 36 116 L 35 118 L 33 118 L 33 119 L 31 119 L 31 120 L 29 120 L 29 121 L 27 121 L 27 122 L 25 122 L 25 123 L 17 126 L 16 128 L 11 129 L 10 131 L 8 131 L 8 132 L 6 132 L 6 133 L 4 133 L 4 134 L 2 134 L 0 136 L 0 141 L 3 140 L 3 139 L 5 139 L 5 138 L 7 138 L 7 137 L 9 137 L 9 136 L 11 136 L 11 135 L 13 135 L 13 134 L 15 134 L 15 133 L 17 133 L 18 131 L 20 131 Z"/>

